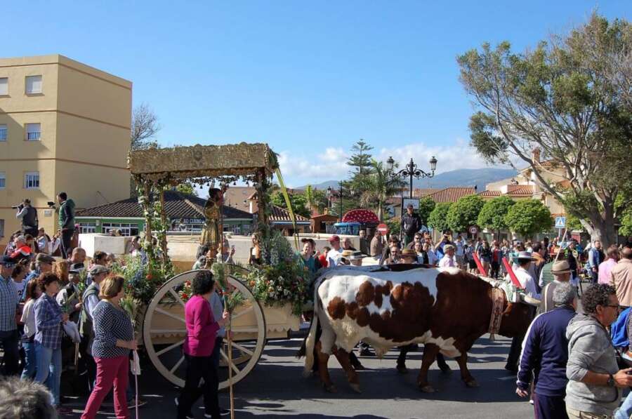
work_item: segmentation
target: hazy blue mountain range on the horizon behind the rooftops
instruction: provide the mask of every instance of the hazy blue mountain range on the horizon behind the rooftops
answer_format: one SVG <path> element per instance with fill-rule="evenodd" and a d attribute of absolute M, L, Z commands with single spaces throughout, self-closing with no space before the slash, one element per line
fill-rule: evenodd
<path fill-rule="evenodd" d="M 413 186 L 419 188 L 443 189 L 451 186 L 476 186 L 477 190 L 485 190 L 485 185 L 497 180 L 512 178 L 517 173 L 512 168 L 459 168 L 435 175 L 433 178 L 413 179 Z M 404 179 L 408 185 L 408 179 Z M 312 185 L 314 189 L 338 189 L 338 180 Z M 305 186 L 294 189 L 305 189 Z"/>

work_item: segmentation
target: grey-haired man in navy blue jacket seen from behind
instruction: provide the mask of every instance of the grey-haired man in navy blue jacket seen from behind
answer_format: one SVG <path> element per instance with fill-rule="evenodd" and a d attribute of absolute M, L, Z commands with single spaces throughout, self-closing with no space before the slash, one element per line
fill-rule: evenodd
<path fill-rule="evenodd" d="M 576 298 L 575 288 L 570 283 L 555 287 L 555 309 L 536 317 L 522 342 L 515 392 L 527 397 L 534 376 L 532 397 L 535 417 L 539 419 L 568 418 L 564 402 L 568 382 L 566 327 L 575 316 Z"/>

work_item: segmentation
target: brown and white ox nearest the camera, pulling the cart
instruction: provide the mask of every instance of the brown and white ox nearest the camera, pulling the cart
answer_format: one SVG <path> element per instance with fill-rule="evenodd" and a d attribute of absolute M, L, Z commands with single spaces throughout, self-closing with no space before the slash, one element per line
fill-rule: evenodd
<path fill-rule="evenodd" d="M 502 298 L 499 334 L 509 338 L 524 335 L 529 306 L 508 302 L 504 293 Z M 334 354 L 350 386 L 360 392 L 349 359 L 360 340 L 374 347 L 378 357 L 392 347 L 423 343 L 426 347 L 417 378 L 422 391 L 434 391 L 428 384 L 428 368 L 439 352 L 455 358 L 463 382 L 477 387 L 468 371 L 468 350 L 487 333 L 492 305 L 492 285 L 456 268 L 338 267 L 316 283 L 315 315 L 303 348 L 304 375 L 311 373 L 316 358 L 325 390 L 336 391 L 327 371 L 329 356 Z"/>

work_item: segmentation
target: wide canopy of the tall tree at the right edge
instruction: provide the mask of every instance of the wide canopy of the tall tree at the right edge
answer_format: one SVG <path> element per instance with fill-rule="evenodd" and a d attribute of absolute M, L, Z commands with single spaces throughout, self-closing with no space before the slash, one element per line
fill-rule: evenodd
<path fill-rule="evenodd" d="M 595 13 L 524 53 L 502 42 L 457 59 L 461 82 L 478 105 L 471 145 L 490 162 L 526 163 L 539 185 L 605 245 L 614 243 L 614 220 L 631 203 L 614 204 L 632 175 L 630 51 L 632 25 Z M 546 161 L 532 153 L 536 148 Z M 551 181 L 552 168 L 567 181 Z"/>

